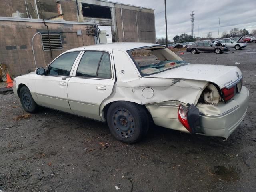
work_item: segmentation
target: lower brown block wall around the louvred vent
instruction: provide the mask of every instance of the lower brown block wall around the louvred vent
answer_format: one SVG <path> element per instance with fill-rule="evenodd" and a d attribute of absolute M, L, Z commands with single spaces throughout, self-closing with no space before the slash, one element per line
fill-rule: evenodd
<path fill-rule="evenodd" d="M 52 51 L 53 58 L 71 48 L 94 44 L 94 36 L 86 35 L 86 25 L 48 23 L 48 26 L 50 31 L 82 30 L 81 36 L 76 33 L 61 33 L 63 50 Z M 0 22 L 0 62 L 7 66 L 12 76 L 36 69 L 31 40 L 40 31 L 47 31 L 40 22 Z M 33 44 L 37 67 L 47 66 L 51 61 L 50 51 L 43 51 L 40 34 L 35 36 Z"/>

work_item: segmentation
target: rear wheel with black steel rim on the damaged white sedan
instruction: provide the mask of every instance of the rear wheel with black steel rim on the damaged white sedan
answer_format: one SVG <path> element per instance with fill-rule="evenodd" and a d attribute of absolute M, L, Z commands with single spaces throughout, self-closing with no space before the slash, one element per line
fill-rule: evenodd
<path fill-rule="evenodd" d="M 149 118 L 144 106 L 118 101 L 107 112 L 108 128 L 113 136 L 124 143 L 140 141 L 148 132 Z"/>

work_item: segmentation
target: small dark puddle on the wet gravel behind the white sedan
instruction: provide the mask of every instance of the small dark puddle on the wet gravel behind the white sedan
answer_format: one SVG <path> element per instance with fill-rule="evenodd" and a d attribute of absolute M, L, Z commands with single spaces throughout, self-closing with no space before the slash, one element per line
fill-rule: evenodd
<path fill-rule="evenodd" d="M 213 174 L 218 175 L 221 179 L 226 181 L 236 181 L 239 179 L 237 170 L 234 167 L 214 166 Z"/>

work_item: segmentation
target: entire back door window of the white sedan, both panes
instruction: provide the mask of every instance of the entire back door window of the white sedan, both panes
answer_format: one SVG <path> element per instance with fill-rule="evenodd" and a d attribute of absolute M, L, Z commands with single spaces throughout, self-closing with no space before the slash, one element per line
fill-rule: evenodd
<path fill-rule="evenodd" d="M 109 54 L 101 51 L 86 51 L 78 65 L 76 77 L 111 78 Z"/>

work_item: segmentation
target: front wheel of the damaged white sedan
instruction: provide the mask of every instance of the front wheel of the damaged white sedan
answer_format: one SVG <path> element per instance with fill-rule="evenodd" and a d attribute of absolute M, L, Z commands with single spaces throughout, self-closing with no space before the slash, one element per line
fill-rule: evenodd
<path fill-rule="evenodd" d="M 27 86 L 23 86 L 20 89 L 20 102 L 26 112 L 34 113 L 38 110 L 38 105 L 34 101 L 30 90 Z"/>

